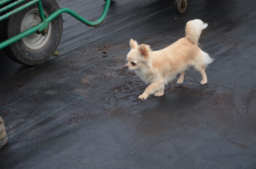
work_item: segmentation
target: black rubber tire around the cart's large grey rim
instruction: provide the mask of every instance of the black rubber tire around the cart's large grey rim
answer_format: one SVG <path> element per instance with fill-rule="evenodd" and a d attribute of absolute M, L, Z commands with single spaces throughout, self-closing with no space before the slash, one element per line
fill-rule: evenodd
<path fill-rule="evenodd" d="M 30 0 L 25 1 L 20 4 L 23 5 L 25 3 L 30 2 Z M 41 1 L 43 5 L 43 10 L 48 14 L 52 14 L 52 12 L 59 9 L 59 5 L 55 0 L 43 0 Z M 14 9 L 17 8 L 14 7 Z M 25 15 L 31 10 L 37 8 L 37 4 L 34 4 L 16 14 L 12 15 L 8 19 L 4 20 L 5 29 L 3 30 L 4 40 L 7 40 L 15 35 L 18 35 L 21 31 L 21 22 Z M 12 11 L 13 9 L 10 9 Z M 47 43 L 42 46 L 40 49 L 32 50 L 29 49 L 22 40 L 12 43 L 11 45 L 3 48 L 4 53 L 11 58 L 13 61 L 22 64 L 22 65 L 38 65 L 49 59 L 53 52 L 56 50 L 60 43 L 60 38 L 62 35 L 62 16 L 59 15 L 55 19 L 51 21 L 52 24 L 52 32 L 47 32 L 47 34 L 51 33 L 49 40 Z"/>

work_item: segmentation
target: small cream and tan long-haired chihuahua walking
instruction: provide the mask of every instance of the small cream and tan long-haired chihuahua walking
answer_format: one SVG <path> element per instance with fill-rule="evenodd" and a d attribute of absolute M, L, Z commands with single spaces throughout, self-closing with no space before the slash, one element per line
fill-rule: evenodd
<path fill-rule="evenodd" d="M 163 96 L 164 86 L 180 73 L 177 83 L 182 83 L 186 69 L 193 67 L 202 75 L 202 85 L 207 83 L 205 68 L 213 59 L 202 51 L 197 43 L 203 29 L 208 26 L 200 19 L 190 20 L 186 25 L 186 36 L 170 46 L 152 51 L 149 45 L 130 40 L 131 50 L 127 54 L 125 68 L 134 70 L 142 81 L 150 85 L 139 96 L 146 99 L 150 94 Z"/>

